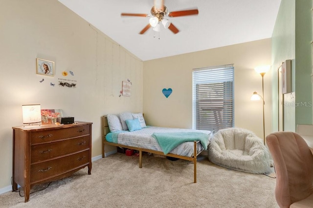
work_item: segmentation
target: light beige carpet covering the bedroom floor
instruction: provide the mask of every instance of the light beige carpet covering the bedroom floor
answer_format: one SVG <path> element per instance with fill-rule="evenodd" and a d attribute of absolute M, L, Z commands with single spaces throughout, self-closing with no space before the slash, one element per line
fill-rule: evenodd
<path fill-rule="evenodd" d="M 194 184 L 190 161 L 143 154 L 139 169 L 137 156 L 115 153 L 93 162 L 91 175 L 87 168 L 79 170 L 30 194 L 27 203 L 18 192 L 1 194 L 0 207 L 278 208 L 275 178 L 219 167 L 205 154 L 198 157 L 197 173 Z"/>

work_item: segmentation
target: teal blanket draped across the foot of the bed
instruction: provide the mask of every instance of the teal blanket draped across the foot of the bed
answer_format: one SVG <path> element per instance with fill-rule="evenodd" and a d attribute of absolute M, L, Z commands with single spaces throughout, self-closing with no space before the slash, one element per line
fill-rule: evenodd
<path fill-rule="evenodd" d="M 207 149 L 208 135 L 200 132 L 173 132 L 173 133 L 153 133 L 164 154 L 169 153 L 174 148 L 184 142 L 199 141 L 204 150 Z"/>

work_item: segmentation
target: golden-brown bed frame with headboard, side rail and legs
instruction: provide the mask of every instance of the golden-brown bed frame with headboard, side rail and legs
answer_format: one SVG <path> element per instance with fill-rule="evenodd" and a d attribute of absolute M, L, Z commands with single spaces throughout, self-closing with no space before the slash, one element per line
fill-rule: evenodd
<path fill-rule="evenodd" d="M 109 125 L 108 125 L 107 116 L 106 115 L 102 116 L 101 120 L 102 120 L 102 158 L 105 157 L 104 153 L 105 153 L 105 146 L 106 145 L 116 146 L 116 147 L 121 147 L 121 148 L 129 148 L 132 150 L 139 151 L 139 168 L 142 168 L 142 152 L 150 152 L 150 153 L 154 153 L 154 154 L 165 155 L 162 151 L 155 151 L 155 150 L 149 150 L 149 149 L 145 149 L 145 148 L 131 147 L 131 146 L 127 146 L 127 145 L 108 142 L 106 140 L 106 135 L 110 132 L 110 129 L 109 129 Z M 202 151 L 197 152 L 197 145 L 199 142 L 200 141 L 194 141 L 194 155 L 195 156 L 188 157 L 188 156 L 181 156 L 181 155 L 171 154 L 171 153 L 166 154 L 166 156 L 169 156 L 169 157 L 175 157 L 175 158 L 179 158 L 179 159 L 183 159 L 183 160 L 189 160 L 189 161 L 192 161 L 194 163 L 194 183 L 197 183 L 197 156 L 202 152 Z"/>

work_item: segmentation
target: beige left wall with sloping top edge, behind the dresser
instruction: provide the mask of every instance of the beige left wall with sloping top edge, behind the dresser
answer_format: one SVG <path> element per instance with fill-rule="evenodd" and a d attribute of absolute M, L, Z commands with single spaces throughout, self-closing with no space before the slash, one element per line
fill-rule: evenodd
<path fill-rule="evenodd" d="M 36 57 L 55 61 L 55 76 L 36 75 Z M 64 116 L 93 122 L 96 157 L 101 155 L 102 115 L 142 112 L 142 69 L 140 59 L 57 0 L 1 0 L 0 192 L 11 188 L 12 126 L 22 125 L 23 104 L 39 103 L 42 109 L 62 109 Z M 74 76 L 62 76 L 63 71 Z M 77 87 L 60 87 L 59 78 L 76 80 Z M 119 97 L 127 79 L 132 96 Z"/>

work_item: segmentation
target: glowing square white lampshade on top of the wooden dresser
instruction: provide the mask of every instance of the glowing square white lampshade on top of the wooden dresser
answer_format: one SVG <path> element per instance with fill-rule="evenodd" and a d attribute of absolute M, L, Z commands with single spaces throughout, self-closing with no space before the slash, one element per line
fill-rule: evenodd
<path fill-rule="evenodd" d="M 40 104 L 22 105 L 23 124 L 41 122 Z"/>

